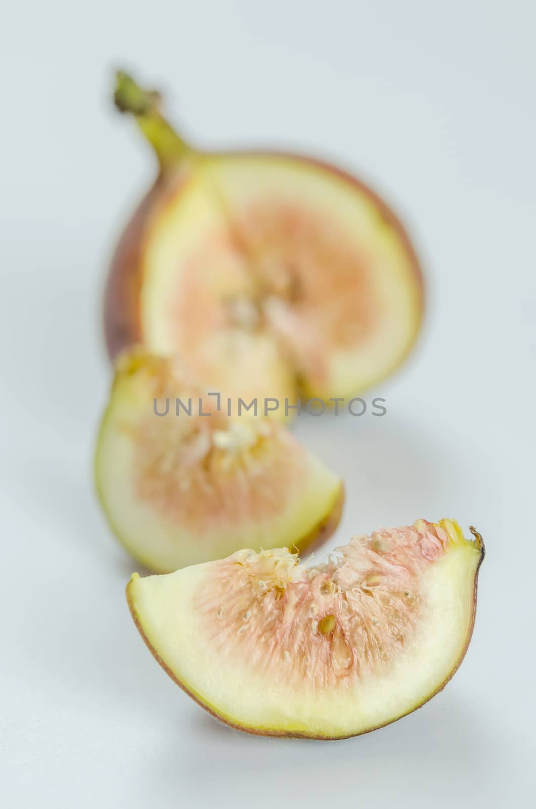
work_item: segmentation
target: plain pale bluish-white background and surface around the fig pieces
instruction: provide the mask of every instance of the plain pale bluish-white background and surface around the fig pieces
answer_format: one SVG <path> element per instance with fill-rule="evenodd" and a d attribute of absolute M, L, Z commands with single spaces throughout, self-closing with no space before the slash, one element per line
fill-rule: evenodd
<path fill-rule="evenodd" d="M 534 2 L 12 2 L 3 12 L 2 804 L 504 807 L 534 801 Z M 338 743 L 230 731 L 156 666 L 91 453 L 110 371 L 105 267 L 151 155 L 125 65 L 210 145 L 333 157 L 423 257 L 419 348 L 383 419 L 301 421 L 347 481 L 338 534 L 417 517 L 487 541 L 453 682 Z M 532 797 L 531 797 L 532 796 Z"/>

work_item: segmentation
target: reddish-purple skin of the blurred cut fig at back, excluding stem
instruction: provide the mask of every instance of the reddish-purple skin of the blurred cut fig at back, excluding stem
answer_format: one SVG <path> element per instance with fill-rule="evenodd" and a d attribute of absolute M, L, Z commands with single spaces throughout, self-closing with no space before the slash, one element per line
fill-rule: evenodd
<path fill-rule="evenodd" d="M 227 154 L 234 156 L 244 155 L 245 157 L 284 157 L 300 163 L 313 163 L 313 165 L 321 167 L 325 171 L 332 172 L 339 179 L 353 186 L 356 191 L 367 196 L 376 205 L 381 217 L 385 219 L 389 227 L 392 227 L 398 233 L 415 273 L 415 281 L 420 294 L 420 311 L 423 311 L 423 273 L 411 240 L 393 210 L 371 188 L 368 188 L 368 185 L 341 168 L 303 155 L 264 150 L 251 150 L 240 153 L 228 152 Z M 138 209 L 135 210 L 119 239 L 113 254 L 104 291 L 104 337 L 108 356 L 112 360 L 122 349 L 130 345 L 143 345 L 144 336 L 140 302 L 143 287 L 143 249 L 148 225 L 152 218 L 158 216 L 159 210 L 166 204 L 166 201 L 177 193 L 177 188 L 184 181 L 184 177 L 181 179 L 178 172 L 160 172 L 155 184 L 138 206 Z"/>

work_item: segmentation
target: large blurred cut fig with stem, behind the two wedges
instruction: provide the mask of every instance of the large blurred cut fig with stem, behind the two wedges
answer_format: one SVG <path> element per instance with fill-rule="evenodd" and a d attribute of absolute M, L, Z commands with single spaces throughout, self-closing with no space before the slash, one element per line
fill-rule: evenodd
<path fill-rule="evenodd" d="M 160 171 L 108 275 L 112 358 L 143 344 L 187 357 L 222 392 L 293 402 L 355 396 L 402 362 L 423 281 L 381 197 L 318 159 L 194 148 L 160 112 L 160 95 L 125 73 L 115 103 Z"/>

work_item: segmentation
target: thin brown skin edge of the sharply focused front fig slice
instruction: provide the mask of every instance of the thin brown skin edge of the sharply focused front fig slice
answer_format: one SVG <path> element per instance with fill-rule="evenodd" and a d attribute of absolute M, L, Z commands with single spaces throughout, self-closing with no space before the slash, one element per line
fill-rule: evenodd
<path fill-rule="evenodd" d="M 158 652 L 155 650 L 155 647 L 152 645 L 150 639 L 147 637 L 147 633 L 145 633 L 145 630 L 143 629 L 141 621 L 139 620 L 138 612 L 137 612 L 136 606 L 134 604 L 134 599 L 133 599 L 132 593 L 130 591 L 132 582 L 134 580 L 134 577 L 136 577 L 138 574 L 133 574 L 132 578 L 130 578 L 130 582 L 128 582 L 128 584 L 125 587 L 126 601 L 127 601 L 127 604 L 128 604 L 129 610 L 130 610 L 130 615 L 132 616 L 132 619 L 134 621 L 134 625 L 136 626 L 136 629 L 138 629 L 138 632 L 140 633 L 141 637 L 143 638 L 143 642 L 147 646 L 147 649 L 151 652 L 152 656 L 155 658 L 155 661 L 157 663 L 159 663 L 159 665 L 164 669 L 166 674 L 168 674 L 168 676 L 171 677 L 173 682 L 175 684 L 177 684 L 179 686 L 179 688 L 181 688 L 182 691 L 184 691 L 186 694 L 188 694 L 189 697 L 191 697 L 195 702 L 197 702 L 198 705 L 200 705 L 203 709 L 205 709 L 208 714 L 211 714 L 211 716 L 213 718 L 215 718 L 218 722 L 221 722 L 223 725 L 227 725 L 229 727 L 232 727 L 236 731 L 242 731 L 243 733 L 248 733 L 249 735 L 273 736 L 273 737 L 280 738 L 280 739 L 317 739 L 318 741 L 342 741 L 342 739 L 351 739 L 354 736 L 365 735 L 367 733 L 372 733 L 372 731 L 380 730 L 381 727 L 386 727 L 388 725 L 392 725 L 393 722 L 398 722 L 399 719 L 402 719 L 405 716 L 414 713 L 415 710 L 418 710 L 419 708 L 422 708 L 423 705 L 426 705 L 426 703 L 432 699 L 432 697 L 435 697 L 436 694 L 443 691 L 445 686 L 450 682 L 450 680 L 452 680 L 452 678 L 456 674 L 458 668 L 461 666 L 462 661 L 466 656 L 467 649 L 469 648 L 471 638 L 473 637 L 474 620 L 475 620 L 475 617 L 476 617 L 476 607 L 477 607 L 477 592 L 478 592 L 478 584 L 479 584 L 479 571 L 480 571 L 480 568 L 482 566 L 484 557 L 486 555 L 486 549 L 485 549 L 485 546 L 484 546 L 482 536 L 479 534 L 479 532 L 477 532 L 474 529 L 474 527 L 472 525 L 470 526 L 470 532 L 473 534 L 475 540 L 477 541 L 477 547 L 479 548 L 479 551 L 480 551 L 480 558 L 479 558 L 479 563 L 478 563 L 478 565 L 476 567 L 476 570 L 474 571 L 473 598 L 472 598 L 472 611 L 471 611 L 470 627 L 468 629 L 467 636 L 466 636 L 466 642 L 465 642 L 465 645 L 463 646 L 462 653 L 460 654 L 460 657 L 457 659 L 456 663 L 454 663 L 454 666 L 452 668 L 452 671 L 450 671 L 449 676 L 446 677 L 446 679 L 437 688 L 435 688 L 432 691 L 432 693 L 430 693 L 426 697 L 424 697 L 423 701 L 419 702 L 418 705 L 415 705 L 415 707 L 413 707 L 410 710 L 406 711 L 406 713 L 401 714 L 400 716 L 398 716 L 396 718 L 390 719 L 388 722 L 383 722 L 383 723 L 381 723 L 379 725 L 368 728 L 366 731 L 360 731 L 359 733 L 355 733 L 355 734 L 349 734 L 349 735 L 344 735 L 344 736 L 316 736 L 316 735 L 309 735 L 307 733 L 298 733 L 298 732 L 263 731 L 262 729 L 257 729 L 257 728 L 252 728 L 252 727 L 245 727 L 245 726 L 242 726 L 242 725 L 239 725 L 239 724 L 235 724 L 233 722 L 230 722 L 228 720 L 228 718 L 223 718 L 215 710 L 211 709 L 211 707 L 206 705 L 205 702 L 198 699 L 198 697 L 194 693 L 192 693 L 189 690 L 189 688 L 187 688 L 185 686 L 185 684 L 183 682 L 181 682 L 181 680 L 179 680 L 177 678 L 177 676 L 175 676 L 174 672 L 170 669 L 170 667 L 168 667 L 167 663 L 165 663 L 164 660 L 160 657 L 160 654 L 158 654 Z"/>

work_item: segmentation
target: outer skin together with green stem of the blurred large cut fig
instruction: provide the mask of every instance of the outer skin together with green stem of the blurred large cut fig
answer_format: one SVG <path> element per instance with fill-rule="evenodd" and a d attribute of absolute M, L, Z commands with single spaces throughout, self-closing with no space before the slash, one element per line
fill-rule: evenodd
<path fill-rule="evenodd" d="M 126 83 L 126 84 L 125 84 Z M 125 92 L 123 92 L 125 90 Z M 134 95 L 133 95 L 134 94 Z M 157 218 L 170 197 L 177 194 L 181 183 L 187 180 L 189 172 L 189 159 L 224 159 L 226 156 L 253 156 L 259 158 L 283 157 L 296 163 L 305 163 L 323 171 L 333 174 L 338 180 L 343 180 L 355 189 L 355 192 L 368 197 L 379 210 L 385 223 L 398 235 L 398 239 L 406 252 L 415 278 L 415 289 L 419 294 L 419 320 L 415 322 L 415 336 L 419 332 L 424 307 L 423 272 L 419 258 L 411 243 L 411 239 L 393 210 L 387 203 L 372 191 L 362 180 L 351 173 L 327 163 L 316 157 L 296 155 L 285 150 L 228 150 L 215 152 L 195 151 L 187 146 L 181 138 L 172 142 L 174 133 L 167 121 L 160 115 L 158 104 L 160 95 L 155 92 L 142 91 L 125 74 L 117 74 L 117 90 L 115 94 L 117 108 L 121 112 L 131 112 L 143 129 L 146 137 L 151 141 L 159 159 L 160 171 L 155 183 L 144 197 L 143 201 L 127 223 L 123 231 L 108 269 L 108 277 L 104 289 L 104 339 L 108 357 L 113 360 L 122 349 L 130 345 L 143 345 L 145 342 L 143 324 L 141 320 L 141 293 L 143 288 L 143 253 L 145 240 L 149 232 L 150 222 Z M 144 116 L 154 116 L 153 127 L 150 133 L 146 131 Z M 155 137 L 154 129 L 165 127 L 163 133 L 163 146 Z M 408 346 L 406 354 L 398 359 L 400 366 L 410 354 L 414 341 Z M 396 370 L 396 367 L 385 369 L 379 374 L 376 381 Z"/>

